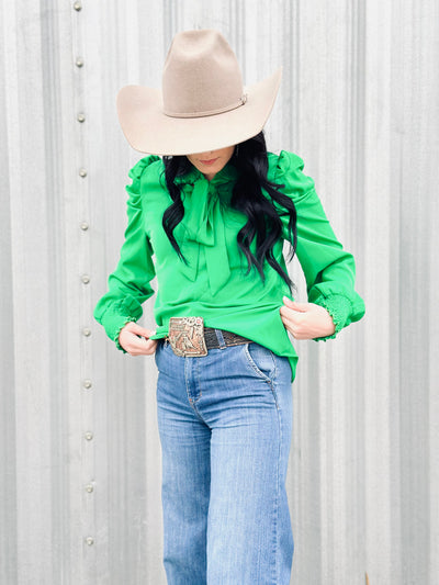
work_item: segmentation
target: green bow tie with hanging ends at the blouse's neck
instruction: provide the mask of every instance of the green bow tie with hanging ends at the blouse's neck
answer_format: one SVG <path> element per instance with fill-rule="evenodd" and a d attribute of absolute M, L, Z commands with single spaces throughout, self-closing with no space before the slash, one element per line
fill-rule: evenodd
<path fill-rule="evenodd" d="M 180 179 L 183 183 L 182 223 L 185 227 L 185 241 L 181 249 L 184 256 L 184 250 L 192 251 L 183 270 L 187 277 L 194 281 L 203 250 L 212 294 L 216 294 L 230 277 L 224 205 L 229 204 L 236 178 L 236 168 L 227 165 L 211 181 L 196 169 Z"/>

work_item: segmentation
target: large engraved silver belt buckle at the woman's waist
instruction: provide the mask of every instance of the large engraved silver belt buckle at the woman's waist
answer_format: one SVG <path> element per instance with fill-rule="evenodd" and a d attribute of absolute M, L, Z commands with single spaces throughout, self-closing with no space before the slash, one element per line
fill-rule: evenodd
<path fill-rule="evenodd" d="M 171 317 L 168 339 L 176 356 L 184 358 L 207 356 L 203 317 Z"/>

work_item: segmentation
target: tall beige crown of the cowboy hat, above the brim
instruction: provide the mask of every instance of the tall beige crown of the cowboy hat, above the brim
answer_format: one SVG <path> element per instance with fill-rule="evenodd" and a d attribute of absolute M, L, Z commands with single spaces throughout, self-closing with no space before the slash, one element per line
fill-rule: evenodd
<path fill-rule="evenodd" d="M 235 53 L 218 31 L 184 31 L 175 36 L 162 75 L 164 113 L 199 117 L 245 103 Z"/>

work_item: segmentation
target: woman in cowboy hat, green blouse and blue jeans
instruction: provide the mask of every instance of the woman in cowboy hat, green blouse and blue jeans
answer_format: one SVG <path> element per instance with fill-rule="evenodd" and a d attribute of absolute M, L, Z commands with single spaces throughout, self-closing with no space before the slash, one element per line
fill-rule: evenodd
<path fill-rule="evenodd" d="M 281 71 L 244 93 L 216 31 L 178 34 L 162 95 L 121 90 L 132 170 L 121 260 L 95 318 L 132 356 L 156 355 L 168 583 L 288 584 L 285 493 L 295 339 L 360 319 L 354 262 L 303 160 L 267 153 Z M 160 158 L 157 155 L 162 155 Z M 291 243 L 308 303 L 290 299 Z M 157 277 L 157 330 L 136 324 Z"/>

